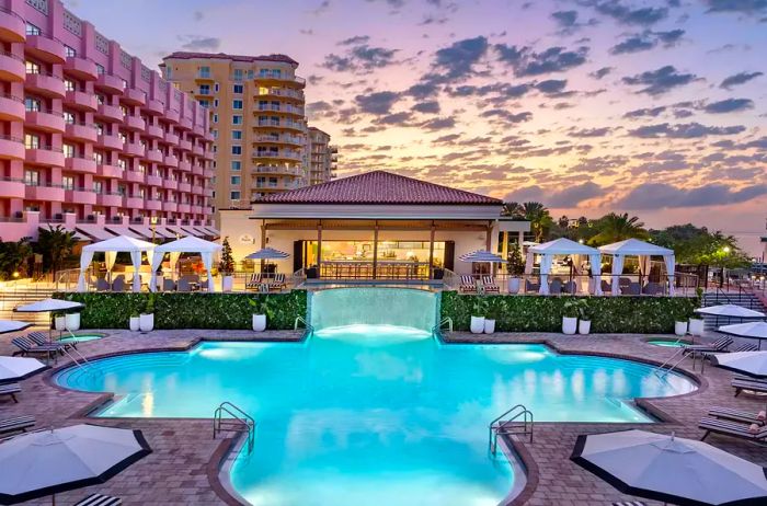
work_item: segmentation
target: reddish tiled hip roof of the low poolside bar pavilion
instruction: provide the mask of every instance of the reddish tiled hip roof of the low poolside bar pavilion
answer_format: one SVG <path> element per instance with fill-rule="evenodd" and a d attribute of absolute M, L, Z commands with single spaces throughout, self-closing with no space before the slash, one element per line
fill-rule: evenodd
<path fill-rule="evenodd" d="M 266 195 L 257 204 L 382 204 L 382 205 L 484 205 L 500 206 L 497 198 L 449 188 L 385 171 Z"/>

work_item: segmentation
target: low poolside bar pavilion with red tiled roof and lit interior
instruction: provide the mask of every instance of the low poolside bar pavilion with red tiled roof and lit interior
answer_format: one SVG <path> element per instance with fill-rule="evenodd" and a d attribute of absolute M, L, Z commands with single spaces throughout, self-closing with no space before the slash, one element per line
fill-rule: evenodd
<path fill-rule="evenodd" d="M 503 250 L 502 234 L 522 244 L 530 223 L 502 209 L 496 198 L 374 171 L 271 194 L 251 210 L 222 209 L 220 228 L 244 271 L 259 271 L 250 253 L 274 248 L 290 253 L 275 268 L 310 279 L 427 280 L 443 269 L 470 274 L 458 257 Z"/>

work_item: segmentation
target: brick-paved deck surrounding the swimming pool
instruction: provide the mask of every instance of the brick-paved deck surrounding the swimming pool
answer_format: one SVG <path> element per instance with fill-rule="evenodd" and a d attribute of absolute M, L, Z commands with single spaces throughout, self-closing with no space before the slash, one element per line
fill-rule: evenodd
<path fill-rule="evenodd" d="M 255 334 L 249 331 L 154 331 L 148 334 L 129 331 L 102 331 L 106 337 L 81 343 L 79 350 L 88 357 L 139 350 L 186 349 L 203 336 L 220 341 L 297 341 L 300 334 L 274 331 Z M 565 336 L 549 333 L 496 333 L 472 335 L 449 333 L 443 336 L 450 342 L 484 343 L 545 343 L 560 353 L 585 353 L 610 357 L 631 358 L 649 363 L 663 363 L 675 353 L 675 348 L 652 346 L 645 343 L 650 336 L 633 334 L 599 334 Z M 0 355 L 10 355 L 12 335 L 0 336 Z M 56 367 L 68 363 L 59 359 Z M 691 361 L 684 363 L 686 372 L 700 382 L 697 391 L 673 398 L 639 400 L 638 403 L 661 418 L 657 424 L 593 424 L 593 423 L 545 423 L 535 424 L 534 441 L 514 438 L 512 445 L 527 469 L 527 485 L 511 505 L 607 505 L 617 501 L 636 499 L 620 494 L 613 486 L 572 463 L 569 458 L 581 434 L 595 434 L 642 428 L 663 434 L 674 432 L 679 437 L 699 439 L 703 432 L 698 421 L 711 406 L 739 407 L 752 412 L 765 409 L 765 396 L 746 393 L 733 395 L 730 387 L 732 373 L 706 367 L 701 376 L 692 371 Z M 699 365 L 698 365 L 699 369 Z M 57 504 L 71 505 L 85 495 L 99 492 L 123 498 L 126 505 L 220 505 L 239 504 L 224 490 L 218 475 L 222 460 L 237 437 L 211 437 L 210 419 L 162 419 L 162 418 L 88 418 L 94 406 L 108 401 L 108 393 L 89 393 L 65 390 L 53 383 L 51 372 L 36 375 L 22 381 L 19 403 L 10 399 L 0 400 L 0 418 L 18 415 L 34 415 L 37 428 L 59 427 L 77 423 L 98 423 L 114 427 L 138 428 L 144 432 L 153 452 L 127 468 L 112 480 L 79 491 L 56 496 Z M 204 392 L 201 392 L 204 394 Z M 712 435 L 708 442 L 744 459 L 767 465 L 767 446 L 741 441 L 730 437 Z M 256 447 L 257 450 L 257 447 Z M 300 484 L 297 484 L 300 486 Z M 646 504 L 661 504 L 646 502 Z M 49 498 L 28 504 L 50 504 Z M 363 505 L 360 505 L 363 506 Z"/>

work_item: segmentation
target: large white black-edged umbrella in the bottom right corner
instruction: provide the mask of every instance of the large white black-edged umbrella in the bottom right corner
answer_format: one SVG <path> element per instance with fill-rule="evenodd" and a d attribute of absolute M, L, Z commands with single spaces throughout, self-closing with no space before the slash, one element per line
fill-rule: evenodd
<path fill-rule="evenodd" d="M 674 435 L 583 435 L 570 459 L 625 494 L 684 506 L 767 504 L 767 469 Z"/>

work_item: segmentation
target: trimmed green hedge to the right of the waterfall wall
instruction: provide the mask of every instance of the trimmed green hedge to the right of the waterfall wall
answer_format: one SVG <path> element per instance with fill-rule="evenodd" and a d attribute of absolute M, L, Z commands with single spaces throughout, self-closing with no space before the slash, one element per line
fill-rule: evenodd
<path fill-rule="evenodd" d="M 444 291 L 442 318 L 468 331 L 471 317 L 495 317 L 497 332 L 561 332 L 565 304 L 577 301 L 594 333 L 671 333 L 674 321 L 687 320 L 699 306 L 687 297 L 537 297 L 476 296 Z"/>

